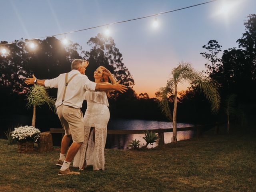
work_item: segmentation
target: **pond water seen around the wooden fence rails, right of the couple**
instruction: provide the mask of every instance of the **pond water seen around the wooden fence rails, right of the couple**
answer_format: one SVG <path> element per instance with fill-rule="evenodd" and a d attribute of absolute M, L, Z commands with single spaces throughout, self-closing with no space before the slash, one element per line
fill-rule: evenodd
<path fill-rule="evenodd" d="M 193 124 L 177 123 L 177 127 L 190 127 Z M 143 129 L 165 129 L 172 128 L 171 122 L 163 121 L 148 121 L 148 120 L 127 120 L 127 119 L 115 119 L 110 120 L 108 124 L 108 129 L 110 130 L 143 130 Z M 107 136 L 106 147 L 105 148 L 115 148 L 115 149 L 126 149 L 132 140 L 140 140 L 140 144 L 146 145 L 143 139 L 144 134 L 122 134 L 122 135 L 110 135 Z M 177 140 L 185 140 L 195 136 L 194 131 L 179 131 L 177 132 Z M 164 133 L 164 142 L 169 143 L 172 141 L 172 132 Z M 157 146 L 154 143 L 153 146 Z"/>

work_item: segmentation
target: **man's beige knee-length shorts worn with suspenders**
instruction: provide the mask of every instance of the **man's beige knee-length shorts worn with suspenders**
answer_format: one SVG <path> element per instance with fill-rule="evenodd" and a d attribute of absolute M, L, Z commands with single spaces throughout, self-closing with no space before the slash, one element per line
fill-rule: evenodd
<path fill-rule="evenodd" d="M 73 142 L 84 142 L 84 120 L 82 111 L 79 108 L 77 109 L 62 104 L 57 107 L 57 114 L 65 130 L 65 134 L 71 134 Z"/>

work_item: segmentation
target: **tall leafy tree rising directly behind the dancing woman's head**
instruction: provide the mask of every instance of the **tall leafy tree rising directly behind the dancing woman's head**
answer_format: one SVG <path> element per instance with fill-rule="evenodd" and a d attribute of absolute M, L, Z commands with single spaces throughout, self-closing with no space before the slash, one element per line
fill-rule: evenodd
<path fill-rule="evenodd" d="M 92 47 L 90 51 L 84 52 L 85 58 L 88 58 L 90 63 L 86 74 L 91 80 L 94 70 L 99 66 L 104 66 L 113 73 L 116 80 L 121 80 L 122 84 L 131 88 L 134 86 L 134 79 L 128 68 L 124 66 L 122 54 L 116 48 L 112 37 L 99 33 L 96 37 L 90 38 L 87 44 Z"/>

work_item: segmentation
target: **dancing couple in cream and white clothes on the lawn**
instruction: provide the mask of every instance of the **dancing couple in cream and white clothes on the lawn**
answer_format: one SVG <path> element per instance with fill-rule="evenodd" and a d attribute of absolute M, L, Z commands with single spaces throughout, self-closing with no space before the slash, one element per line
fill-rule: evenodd
<path fill-rule="evenodd" d="M 58 175 L 80 174 L 70 169 L 73 166 L 84 170 L 92 164 L 94 170 L 104 170 L 104 147 L 106 144 L 107 124 L 110 118 L 108 99 L 110 90 L 126 92 L 126 86 L 116 82 L 105 67 L 100 66 L 94 72 L 95 82 L 85 75 L 89 62 L 75 59 L 72 70 L 50 80 L 39 80 L 34 75 L 25 80 L 26 84 L 38 84 L 48 88 L 58 88 L 56 109 L 65 130 L 62 138 Z M 112 84 L 108 82 L 108 78 Z M 83 117 L 80 110 L 83 100 L 87 100 L 87 109 Z M 70 148 L 70 140 L 73 140 Z M 66 154 L 67 152 L 67 154 Z"/>

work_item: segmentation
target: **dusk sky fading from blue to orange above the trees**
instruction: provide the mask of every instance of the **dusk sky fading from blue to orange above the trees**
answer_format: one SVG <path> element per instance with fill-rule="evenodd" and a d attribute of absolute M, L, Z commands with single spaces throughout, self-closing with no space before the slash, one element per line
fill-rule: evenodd
<path fill-rule="evenodd" d="M 5 0 L 1 1 L 0 41 L 37 38 L 148 16 L 209 0 Z M 154 17 L 109 26 L 110 36 L 123 54 L 136 93 L 150 97 L 166 85 L 172 68 L 191 62 L 199 71 L 206 60 L 203 45 L 217 40 L 222 50 L 237 47 L 244 20 L 256 13 L 256 0 L 216 2 Z M 66 37 L 89 50 L 86 42 L 106 27 L 68 34 Z M 63 38 L 64 36 L 56 36 Z M 220 55 L 221 56 L 221 55 Z M 185 90 L 188 84 L 181 85 Z"/>

